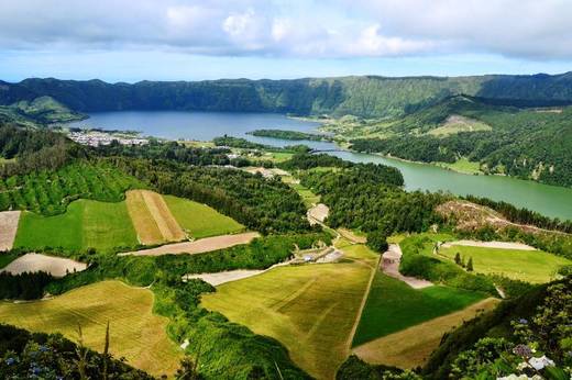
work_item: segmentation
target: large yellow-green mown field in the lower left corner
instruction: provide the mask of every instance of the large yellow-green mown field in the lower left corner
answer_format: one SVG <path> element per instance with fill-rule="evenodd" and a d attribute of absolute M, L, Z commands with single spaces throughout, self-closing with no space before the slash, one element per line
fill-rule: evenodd
<path fill-rule="evenodd" d="M 0 322 L 36 332 L 62 333 L 102 351 L 110 323 L 110 351 L 152 375 L 173 375 L 182 353 L 166 335 L 167 318 L 153 315 L 153 293 L 119 281 L 82 287 L 47 301 L 0 302 Z"/>

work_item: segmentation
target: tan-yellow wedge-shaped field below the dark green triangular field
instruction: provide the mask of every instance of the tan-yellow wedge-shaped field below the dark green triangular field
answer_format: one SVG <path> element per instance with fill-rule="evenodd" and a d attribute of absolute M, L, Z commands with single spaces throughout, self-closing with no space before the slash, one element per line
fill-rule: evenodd
<path fill-rule="evenodd" d="M 439 346 L 443 334 L 460 326 L 477 314 L 493 310 L 497 299 L 480 301 L 461 311 L 439 316 L 404 331 L 369 342 L 353 349 L 363 360 L 399 368 L 422 366 L 431 353 Z"/>

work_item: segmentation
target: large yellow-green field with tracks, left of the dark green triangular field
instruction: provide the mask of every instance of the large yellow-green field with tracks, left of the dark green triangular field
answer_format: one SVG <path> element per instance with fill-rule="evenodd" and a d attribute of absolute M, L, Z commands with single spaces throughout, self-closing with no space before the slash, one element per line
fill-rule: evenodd
<path fill-rule="evenodd" d="M 349 355 L 371 271 L 359 262 L 279 267 L 221 284 L 202 305 L 278 339 L 300 368 L 331 379 Z"/>

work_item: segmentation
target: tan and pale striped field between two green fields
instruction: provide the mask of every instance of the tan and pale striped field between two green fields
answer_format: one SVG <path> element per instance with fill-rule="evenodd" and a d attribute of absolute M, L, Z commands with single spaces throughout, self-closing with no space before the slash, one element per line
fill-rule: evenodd
<path fill-rule="evenodd" d="M 125 193 L 128 211 L 142 244 L 180 242 L 186 238 L 163 197 L 151 190 Z"/>

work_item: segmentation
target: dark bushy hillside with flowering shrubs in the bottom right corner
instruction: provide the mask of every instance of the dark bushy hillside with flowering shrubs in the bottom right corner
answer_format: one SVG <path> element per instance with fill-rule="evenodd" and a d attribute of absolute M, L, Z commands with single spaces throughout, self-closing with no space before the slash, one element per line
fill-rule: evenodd
<path fill-rule="evenodd" d="M 546 355 L 556 362 L 548 379 L 570 377 L 569 350 L 572 279 L 536 287 L 522 297 L 451 332 L 431 355 L 422 375 L 430 379 L 496 378 L 516 373 L 518 365 Z M 518 348 L 517 348 L 518 347 Z M 566 370 L 563 369 L 568 367 Z"/>

